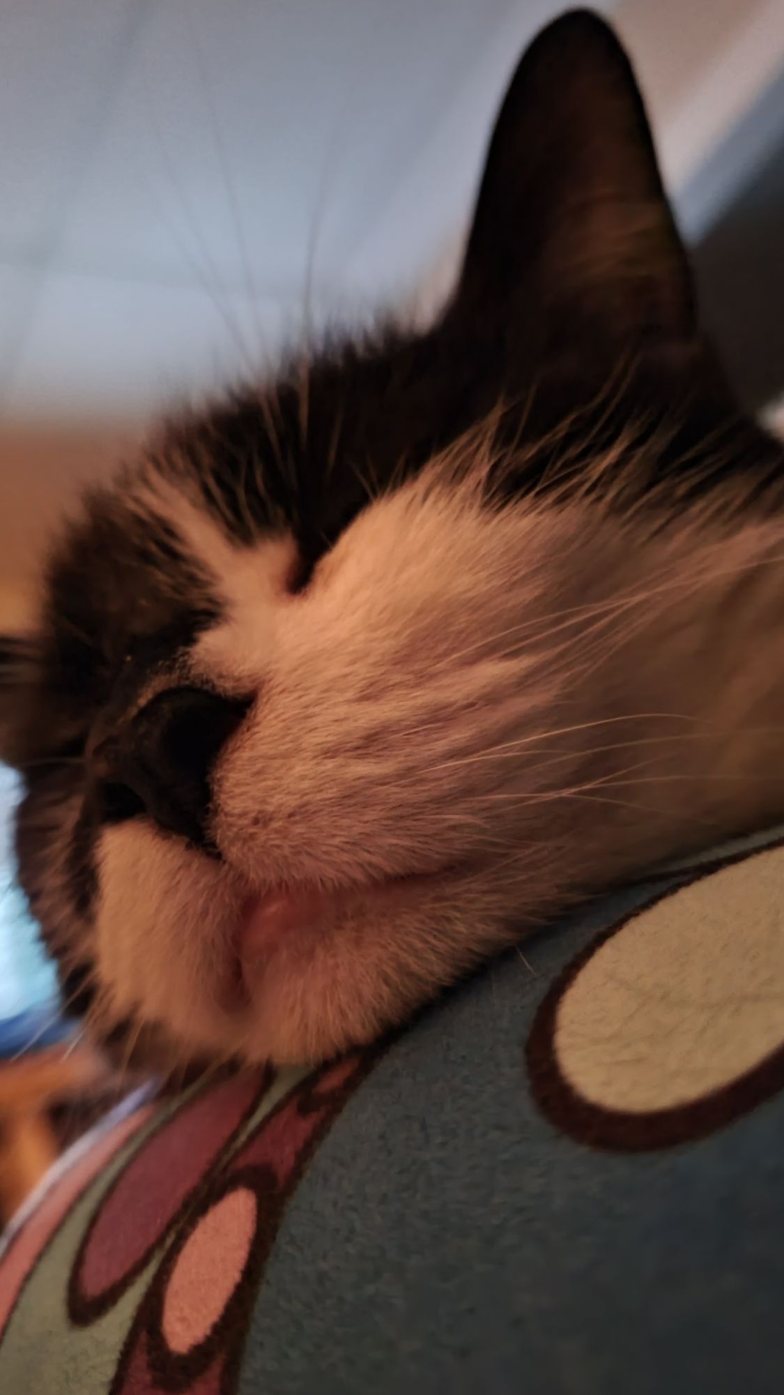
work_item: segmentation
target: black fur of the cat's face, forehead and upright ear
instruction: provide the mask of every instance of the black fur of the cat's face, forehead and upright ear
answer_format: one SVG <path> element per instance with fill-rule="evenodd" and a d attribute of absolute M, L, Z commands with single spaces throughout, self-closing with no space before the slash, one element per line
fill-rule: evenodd
<path fill-rule="evenodd" d="M 490 416 L 494 499 L 585 491 L 586 469 L 622 441 L 612 472 L 590 476 L 617 508 L 647 499 L 671 515 L 727 477 L 742 477 L 745 506 L 781 505 L 781 449 L 738 410 L 703 339 L 628 60 L 587 13 L 544 31 L 512 80 L 438 324 L 292 360 L 278 384 L 172 423 L 148 469 L 184 481 L 237 547 L 292 533 L 296 589 L 368 499 Z M 656 470 L 640 474 L 646 445 Z M 39 657 L 25 654 L 24 681 L 3 689 L 4 739 L 27 785 L 18 854 L 33 911 L 46 872 L 42 809 L 50 801 L 56 824 L 59 797 L 82 798 L 68 879 L 84 921 L 106 784 L 124 791 L 110 791 L 114 816 L 138 810 L 128 790 L 141 798 L 126 767 L 113 781 L 103 771 L 100 810 L 95 753 L 120 734 L 127 755 L 142 685 L 158 665 L 174 672 L 219 618 L 219 587 L 170 525 L 113 490 L 93 494 L 66 531 L 46 597 Z M 20 657 L 7 646 L 0 668 L 21 672 Z M 202 838 L 209 791 L 195 746 L 197 794 L 179 808 L 177 833 Z M 170 808 L 183 763 L 159 755 Z"/>

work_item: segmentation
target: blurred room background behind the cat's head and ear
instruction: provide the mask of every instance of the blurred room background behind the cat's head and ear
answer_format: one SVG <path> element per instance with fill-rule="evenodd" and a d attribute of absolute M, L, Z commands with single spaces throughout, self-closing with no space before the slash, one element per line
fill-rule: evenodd
<path fill-rule="evenodd" d="M 506 80 L 562 8 L 0 0 L 1 628 L 63 504 L 151 414 L 328 324 L 434 312 Z M 784 425 L 784 0 L 596 8 L 633 56 L 703 317 Z M 13 889 L 14 798 L 0 767 L 6 1057 L 31 1013 L 46 1039 L 53 992 Z"/>

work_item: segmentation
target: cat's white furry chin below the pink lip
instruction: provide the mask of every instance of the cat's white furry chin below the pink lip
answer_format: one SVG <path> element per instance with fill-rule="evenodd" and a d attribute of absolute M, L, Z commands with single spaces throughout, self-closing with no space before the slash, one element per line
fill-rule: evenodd
<path fill-rule="evenodd" d="M 449 868 L 248 896 L 219 990 L 209 995 L 209 1013 L 218 1003 L 220 1014 L 216 1036 L 234 1039 L 247 1060 L 279 1064 L 321 1062 L 372 1041 L 453 976 L 441 963 L 446 937 L 438 940 L 444 903 L 463 875 Z M 452 914 L 452 932 L 460 919 Z M 460 963 L 459 950 L 455 957 Z"/>

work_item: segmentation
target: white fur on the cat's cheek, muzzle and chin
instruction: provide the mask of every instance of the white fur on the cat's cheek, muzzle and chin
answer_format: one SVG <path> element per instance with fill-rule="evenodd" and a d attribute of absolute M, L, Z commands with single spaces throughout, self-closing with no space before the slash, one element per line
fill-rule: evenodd
<path fill-rule="evenodd" d="M 144 820 L 102 837 L 113 1010 L 186 1049 L 319 1059 L 575 897 L 781 813 L 784 525 L 491 511 L 481 478 L 435 462 L 301 596 L 290 540 L 234 547 L 145 487 L 227 604 L 194 677 L 255 703 L 215 771 L 223 865 Z M 374 890 L 410 873 L 431 876 Z M 354 894 L 229 1011 L 240 905 L 278 884 Z"/>

